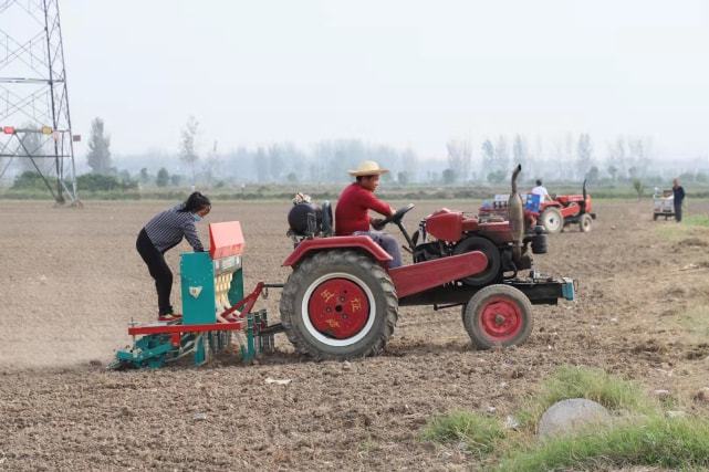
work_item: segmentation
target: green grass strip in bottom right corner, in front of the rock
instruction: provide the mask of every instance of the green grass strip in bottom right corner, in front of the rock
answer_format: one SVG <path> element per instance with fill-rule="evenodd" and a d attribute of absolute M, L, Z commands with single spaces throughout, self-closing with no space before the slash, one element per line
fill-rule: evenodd
<path fill-rule="evenodd" d="M 593 433 L 553 438 L 511 453 L 497 470 L 594 470 L 603 465 L 706 470 L 709 468 L 709 422 L 656 416 Z"/>

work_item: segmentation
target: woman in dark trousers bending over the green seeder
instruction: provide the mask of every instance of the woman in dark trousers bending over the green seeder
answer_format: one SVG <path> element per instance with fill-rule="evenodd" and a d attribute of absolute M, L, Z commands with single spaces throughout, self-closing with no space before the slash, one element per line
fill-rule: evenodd
<path fill-rule="evenodd" d="M 153 217 L 138 233 L 135 248 L 155 280 L 158 321 L 171 322 L 180 317 L 175 314 L 170 304 L 173 272 L 165 261 L 165 252 L 179 244 L 183 238 L 187 239 L 195 252 L 202 252 L 205 248 L 199 240 L 195 223 L 206 217 L 210 210 L 209 199 L 196 191 L 184 203 Z"/>

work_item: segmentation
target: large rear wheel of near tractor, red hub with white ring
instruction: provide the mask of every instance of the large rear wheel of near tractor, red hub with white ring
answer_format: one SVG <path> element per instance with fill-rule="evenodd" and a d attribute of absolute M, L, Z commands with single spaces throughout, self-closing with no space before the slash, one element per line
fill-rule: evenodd
<path fill-rule="evenodd" d="M 398 300 L 386 271 L 355 251 L 323 251 L 289 276 L 281 323 L 301 354 L 350 359 L 382 352 L 394 333 Z"/>

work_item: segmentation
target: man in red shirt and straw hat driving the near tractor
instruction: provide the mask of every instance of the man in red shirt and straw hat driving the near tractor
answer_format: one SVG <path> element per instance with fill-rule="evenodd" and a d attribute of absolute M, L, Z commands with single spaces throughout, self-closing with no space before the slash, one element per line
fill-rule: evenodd
<path fill-rule="evenodd" d="M 350 183 L 340 193 L 335 210 L 336 235 L 368 235 L 390 256 L 389 269 L 402 265 L 402 251 L 396 239 L 385 232 L 382 219 L 369 219 L 369 210 L 384 217 L 392 217 L 396 210 L 375 197 L 374 191 L 379 186 L 379 176 L 388 172 L 373 160 L 365 160 L 356 170 L 348 171 L 356 181 Z M 369 230 L 369 224 L 375 231 Z"/>

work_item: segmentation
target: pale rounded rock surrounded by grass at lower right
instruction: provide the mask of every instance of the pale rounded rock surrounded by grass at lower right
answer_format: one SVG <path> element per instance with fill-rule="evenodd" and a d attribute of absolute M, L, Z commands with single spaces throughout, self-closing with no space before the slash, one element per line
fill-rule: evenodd
<path fill-rule="evenodd" d="M 572 398 L 549 407 L 539 420 L 536 433 L 541 437 L 556 436 L 608 422 L 611 415 L 602 405 L 585 398 Z"/>

